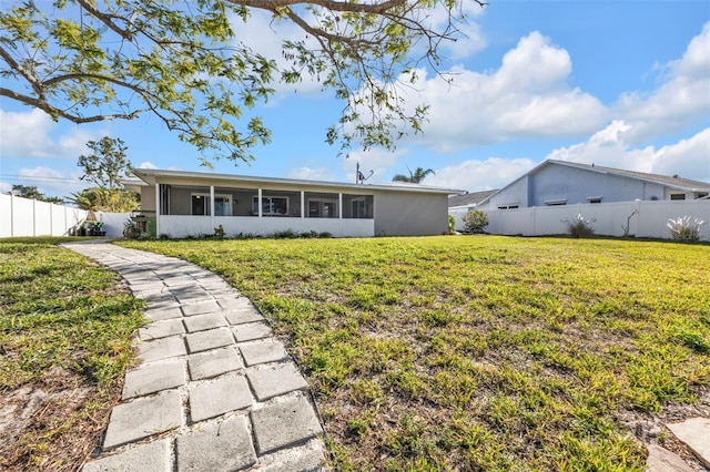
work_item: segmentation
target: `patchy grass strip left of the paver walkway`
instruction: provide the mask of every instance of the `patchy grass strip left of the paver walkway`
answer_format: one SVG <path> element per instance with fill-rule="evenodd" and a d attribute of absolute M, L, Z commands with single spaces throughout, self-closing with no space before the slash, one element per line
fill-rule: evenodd
<path fill-rule="evenodd" d="M 54 244 L 0 239 L 0 469 L 77 470 L 132 360 L 142 302 Z"/>

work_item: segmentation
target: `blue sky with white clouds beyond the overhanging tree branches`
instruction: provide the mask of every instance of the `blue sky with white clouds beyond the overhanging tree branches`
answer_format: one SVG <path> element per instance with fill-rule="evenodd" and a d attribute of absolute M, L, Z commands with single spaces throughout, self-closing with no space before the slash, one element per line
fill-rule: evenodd
<path fill-rule="evenodd" d="M 436 172 L 429 185 L 476 192 L 557 158 L 710 182 L 710 2 L 490 0 L 471 12 L 468 38 L 445 50 L 453 86 L 420 71 L 408 99 L 430 105 L 429 121 L 394 152 L 338 157 L 324 137 L 343 103 L 310 81 L 253 111 L 273 131 L 255 162 L 214 171 L 155 117 L 53 123 L 0 98 L 0 191 L 80 191 L 77 158 L 104 135 L 122 138 L 136 167 L 354 182 L 359 163 L 384 183 L 422 166 Z M 278 58 L 280 38 L 294 32 L 267 23 L 254 16 L 240 39 Z"/>

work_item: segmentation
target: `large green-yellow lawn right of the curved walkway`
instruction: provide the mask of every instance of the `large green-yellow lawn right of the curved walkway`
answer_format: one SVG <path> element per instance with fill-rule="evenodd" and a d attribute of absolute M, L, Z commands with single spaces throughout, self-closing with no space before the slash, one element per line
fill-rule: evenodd
<path fill-rule="evenodd" d="M 337 470 L 641 470 L 620 418 L 710 384 L 708 245 L 122 244 L 222 274 L 258 305 L 306 371 Z"/>

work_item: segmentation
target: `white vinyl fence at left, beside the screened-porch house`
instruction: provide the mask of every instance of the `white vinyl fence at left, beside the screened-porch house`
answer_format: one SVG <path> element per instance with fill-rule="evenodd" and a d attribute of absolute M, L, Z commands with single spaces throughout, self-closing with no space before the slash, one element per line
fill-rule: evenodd
<path fill-rule="evenodd" d="M 88 212 L 47 202 L 0 194 L 0 237 L 71 236 Z M 123 235 L 128 213 L 95 212 L 109 237 Z"/>

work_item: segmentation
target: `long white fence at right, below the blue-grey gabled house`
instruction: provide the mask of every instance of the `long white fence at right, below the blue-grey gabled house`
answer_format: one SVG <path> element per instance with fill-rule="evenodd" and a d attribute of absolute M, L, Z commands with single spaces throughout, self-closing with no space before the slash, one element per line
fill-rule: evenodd
<path fill-rule="evenodd" d="M 635 211 L 638 213 L 628 219 Z M 464 228 L 462 216 L 466 212 L 466 208 L 449 212 L 456 217 L 456 228 L 459 230 Z M 629 224 L 630 236 L 661 239 L 671 238 L 667 226 L 670 218 L 690 216 L 691 219 L 704 222 L 700 227 L 700 239 L 710 242 L 710 201 L 707 199 L 576 204 L 485 212 L 488 214 L 486 233 L 496 235 L 566 234 L 565 220 L 581 215 L 592 220 L 591 227 L 597 235 L 623 236 L 623 228 Z"/>

